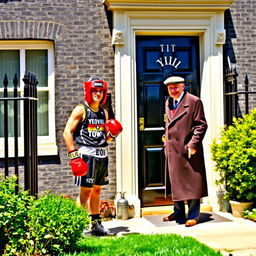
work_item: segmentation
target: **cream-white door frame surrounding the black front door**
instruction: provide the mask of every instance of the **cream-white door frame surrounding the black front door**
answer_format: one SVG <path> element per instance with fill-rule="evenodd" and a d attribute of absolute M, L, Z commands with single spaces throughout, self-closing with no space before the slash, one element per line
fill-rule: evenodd
<path fill-rule="evenodd" d="M 141 206 L 138 192 L 136 35 L 193 35 L 200 38 L 200 97 L 209 126 L 204 139 L 209 196 L 204 199 L 204 203 L 216 208 L 218 189 L 209 144 L 224 124 L 224 8 L 188 8 L 182 11 L 113 10 L 116 117 L 124 127 L 116 141 L 117 191 L 126 192 L 129 204 L 135 207 L 135 217 L 138 217 Z"/>

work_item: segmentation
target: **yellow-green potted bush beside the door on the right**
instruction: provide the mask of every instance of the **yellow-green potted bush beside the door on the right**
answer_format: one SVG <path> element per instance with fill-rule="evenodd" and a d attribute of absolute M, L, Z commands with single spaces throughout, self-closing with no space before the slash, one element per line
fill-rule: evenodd
<path fill-rule="evenodd" d="M 216 183 L 225 185 L 232 210 L 234 201 L 250 202 L 245 208 L 252 206 L 256 201 L 256 109 L 224 126 L 211 144 L 211 154 L 220 174 Z M 238 211 L 233 215 L 242 216 Z"/>

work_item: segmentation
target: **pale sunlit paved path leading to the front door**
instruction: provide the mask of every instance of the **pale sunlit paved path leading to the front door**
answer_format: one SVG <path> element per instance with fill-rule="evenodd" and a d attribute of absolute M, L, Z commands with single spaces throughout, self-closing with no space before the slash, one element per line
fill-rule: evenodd
<path fill-rule="evenodd" d="M 163 222 L 164 215 L 147 215 L 129 220 L 104 222 L 118 236 L 130 233 L 169 233 L 191 236 L 224 256 L 256 256 L 256 222 L 236 218 L 230 213 L 203 212 L 196 226 L 185 227 L 175 222 Z"/>

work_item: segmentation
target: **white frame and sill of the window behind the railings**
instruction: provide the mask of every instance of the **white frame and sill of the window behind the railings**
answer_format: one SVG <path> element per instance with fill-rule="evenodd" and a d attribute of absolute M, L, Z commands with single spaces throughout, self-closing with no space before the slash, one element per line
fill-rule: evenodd
<path fill-rule="evenodd" d="M 1 50 L 20 50 L 20 92 L 23 95 L 24 82 L 23 76 L 25 73 L 25 54 L 27 49 L 40 49 L 48 50 L 48 120 L 49 120 L 49 135 L 48 136 L 38 136 L 38 156 L 45 155 L 57 155 L 58 149 L 56 144 L 56 131 L 55 131 L 55 73 L 54 73 L 54 44 L 51 41 L 0 41 Z M 9 77 L 12 81 L 12 78 Z M 44 87 L 40 87 L 38 84 L 38 92 L 45 91 Z M 1 89 L 2 90 L 2 89 Z M 23 120 L 23 104 L 21 104 L 21 120 Z M 24 156 L 24 132 L 23 132 L 23 122 L 20 123 L 21 127 L 21 137 L 19 138 L 19 156 Z M 13 138 L 9 138 L 9 157 L 14 156 L 14 142 Z M 4 138 L 0 138 L 1 145 L 4 145 Z M 4 157 L 4 146 L 0 147 L 0 157 Z"/>

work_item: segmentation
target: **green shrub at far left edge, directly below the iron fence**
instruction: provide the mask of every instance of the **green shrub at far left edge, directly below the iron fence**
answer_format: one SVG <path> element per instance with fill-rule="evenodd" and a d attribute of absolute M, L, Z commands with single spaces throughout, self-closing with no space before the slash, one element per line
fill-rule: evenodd
<path fill-rule="evenodd" d="M 27 235 L 27 213 L 34 198 L 17 187 L 17 177 L 0 177 L 0 255 L 19 255 Z"/>

